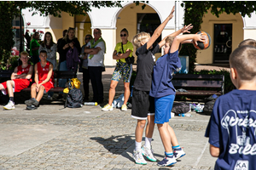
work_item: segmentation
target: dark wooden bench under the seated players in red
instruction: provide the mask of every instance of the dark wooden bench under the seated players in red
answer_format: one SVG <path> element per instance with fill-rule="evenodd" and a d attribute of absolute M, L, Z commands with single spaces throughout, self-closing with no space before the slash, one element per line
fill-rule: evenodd
<path fill-rule="evenodd" d="M 0 71 L 0 78 L 9 78 L 11 77 L 11 74 L 13 71 Z M 50 92 L 63 92 L 64 88 L 59 87 L 59 79 L 69 79 L 76 77 L 75 71 L 54 71 L 54 78 L 56 79 L 55 88 L 50 88 Z M 33 80 L 33 79 L 32 79 Z M 3 82 L 3 81 L 1 81 Z M 25 88 L 21 91 L 30 91 L 31 88 Z"/>

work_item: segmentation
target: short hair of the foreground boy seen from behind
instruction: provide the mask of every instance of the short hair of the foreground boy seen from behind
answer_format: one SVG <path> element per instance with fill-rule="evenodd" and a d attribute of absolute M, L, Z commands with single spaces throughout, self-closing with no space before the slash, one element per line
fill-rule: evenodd
<path fill-rule="evenodd" d="M 230 67 L 235 68 L 243 81 L 256 78 L 256 48 L 245 45 L 230 54 Z"/>

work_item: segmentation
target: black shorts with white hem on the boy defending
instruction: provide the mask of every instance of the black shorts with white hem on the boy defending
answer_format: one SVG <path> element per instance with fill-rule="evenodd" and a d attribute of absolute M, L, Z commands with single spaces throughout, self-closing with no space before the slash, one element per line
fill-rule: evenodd
<path fill-rule="evenodd" d="M 135 119 L 147 120 L 148 115 L 154 115 L 154 98 L 148 91 L 133 88 L 131 105 L 131 117 Z"/>

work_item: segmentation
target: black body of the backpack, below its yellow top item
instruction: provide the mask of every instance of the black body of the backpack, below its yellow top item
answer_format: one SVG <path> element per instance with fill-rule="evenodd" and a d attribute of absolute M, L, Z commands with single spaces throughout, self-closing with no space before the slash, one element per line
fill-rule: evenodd
<path fill-rule="evenodd" d="M 70 89 L 64 107 L 79 108 L 83 106 L 83 94 L 80 89 Z"/>

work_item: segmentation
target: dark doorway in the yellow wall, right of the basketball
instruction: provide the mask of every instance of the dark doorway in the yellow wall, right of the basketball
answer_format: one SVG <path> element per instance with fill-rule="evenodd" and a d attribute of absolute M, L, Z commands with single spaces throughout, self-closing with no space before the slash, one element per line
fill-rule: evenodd
<path fill-rule="evenodd" d="M 229 63 L 232 52 L 232 24 L 214 24 L 213 63 Z"/>

